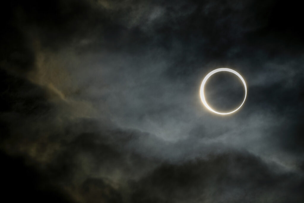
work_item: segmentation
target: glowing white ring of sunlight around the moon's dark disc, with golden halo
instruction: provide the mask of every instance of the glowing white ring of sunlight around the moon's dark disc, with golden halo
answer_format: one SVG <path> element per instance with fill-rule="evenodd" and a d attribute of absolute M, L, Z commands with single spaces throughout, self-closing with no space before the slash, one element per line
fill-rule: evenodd
<path fill-rule="evenodd" d="M 205 86 L 205 83 L 207 82 L 207 80 L 209 79 L 209 77 L 211 75 L 213 75 L 213 74 L 215 74 L 217 72 L 221 72 L 221 71 L 227 71 L 227 72 L 231 72 L 231 73 L 237 75 L 241 79 L 241 81 L 243 82 L 244 88 L 245 88 L 245 96 L 244 96 L 244 100 L 243 100 L 242 104 L 239 107 L 237 107 L 237 109 L 235 109 L 235 110 L 233 110 L 231 112 L 224 112 L 223 113 L 223 112 L 217 112 L 217 111 L 213 110 L 211 107 L 209 107 L 209 105 L 208 105 L 208 103 L 206 101 L 205 95 L 204 95 L 204 86 Z M 202 82 L 202 85 L 201 85 L 201 89 L 200 89 L 200 94 L 201 94 L 201 100 L 202 100 L 203 104 L 206 106 L 207 109 L 209 109 L 213 113 L 222 114 L 222 115 L 232 114 L 233 112 L 236 112 L 244 104 L 244 102 L 246 100 L 246 96 L 247 96 L 247 86 L 246 86 L 246 82 L 243 79 L 243 77 L 238 72 L 236 72 L 235 70 L 232 70 L 230 68 L 218 68 L 218 69 L 215 69 L 215 70 L 209 72 L 206 75 L 206 77 L 203 79 L 203 82 Z"/>

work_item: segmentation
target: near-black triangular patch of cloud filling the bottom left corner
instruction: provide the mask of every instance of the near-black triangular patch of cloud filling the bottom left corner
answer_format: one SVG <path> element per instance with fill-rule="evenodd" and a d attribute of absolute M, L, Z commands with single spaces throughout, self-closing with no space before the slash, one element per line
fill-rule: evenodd
<path fill-rule="evenodd" d="M 21 157 L 10 157 L 3 152 L 2 161 L 2 194 L 10 201 L 32 202 L 70 202 L 66 194 L 52 187 L 50 180 L 36 169 L 28 166 Z"/>

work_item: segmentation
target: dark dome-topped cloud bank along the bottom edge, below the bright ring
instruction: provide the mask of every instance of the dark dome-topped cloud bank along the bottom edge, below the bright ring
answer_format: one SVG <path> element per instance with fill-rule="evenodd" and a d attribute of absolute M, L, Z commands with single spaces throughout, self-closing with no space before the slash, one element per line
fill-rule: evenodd
<path fill-rule="evenodd" d="M 302 180 L 274 173 L 260 159 L 229 152 L 164 164 L 140 180 L 133 202 L 299 202 Z"/>

